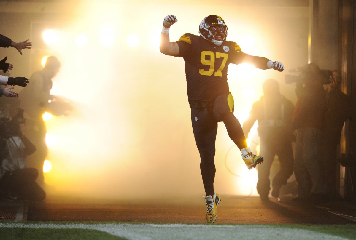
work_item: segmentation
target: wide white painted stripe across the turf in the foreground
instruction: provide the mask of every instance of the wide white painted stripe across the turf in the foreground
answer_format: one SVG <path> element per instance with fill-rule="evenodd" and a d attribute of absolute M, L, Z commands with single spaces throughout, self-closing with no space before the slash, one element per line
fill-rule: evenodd
<path fill-rule="evenodd" d="M 4 222 L 0 228 L 49 228 L 49 229 L 90 229 L 130 240 L 170 240 L 170 239 L 281 239 L 281 240 L 346 240 L 339 236 L 315 231 L 281 228 L 266 225 L 187 225 L 187 224 L 61 224 Z"/>

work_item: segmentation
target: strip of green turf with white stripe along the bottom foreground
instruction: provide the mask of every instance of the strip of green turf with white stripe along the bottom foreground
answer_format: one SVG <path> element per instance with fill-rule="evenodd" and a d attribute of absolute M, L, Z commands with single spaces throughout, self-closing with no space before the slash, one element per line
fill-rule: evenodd
<path fill-rule="evenodd" d="M 210 237 L 209 237 L 210 236 Z M 213 237 L 214 236 L 214 237 Z M 2 222 L 0 239 L 356 239 L 355 225 Z"/>

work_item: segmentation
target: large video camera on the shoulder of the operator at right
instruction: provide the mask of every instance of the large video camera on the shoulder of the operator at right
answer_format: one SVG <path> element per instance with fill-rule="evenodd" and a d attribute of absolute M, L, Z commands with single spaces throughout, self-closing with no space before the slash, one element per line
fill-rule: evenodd
<path fill-rule="evenodd" d="M 323 85 L 326 85 L 334 81 L 333 72 L 331 70 L 319 69 L 314 63 L 307 64 L 304 67 L 298 67 L 297 69 L 291 69 L 289 72 L 299 73 L 299 75 L 287 74 L 285 76 L 286 84 L 291 84 L 293 82 L 303 84 L 307 81 L 318 80 Z"/>

